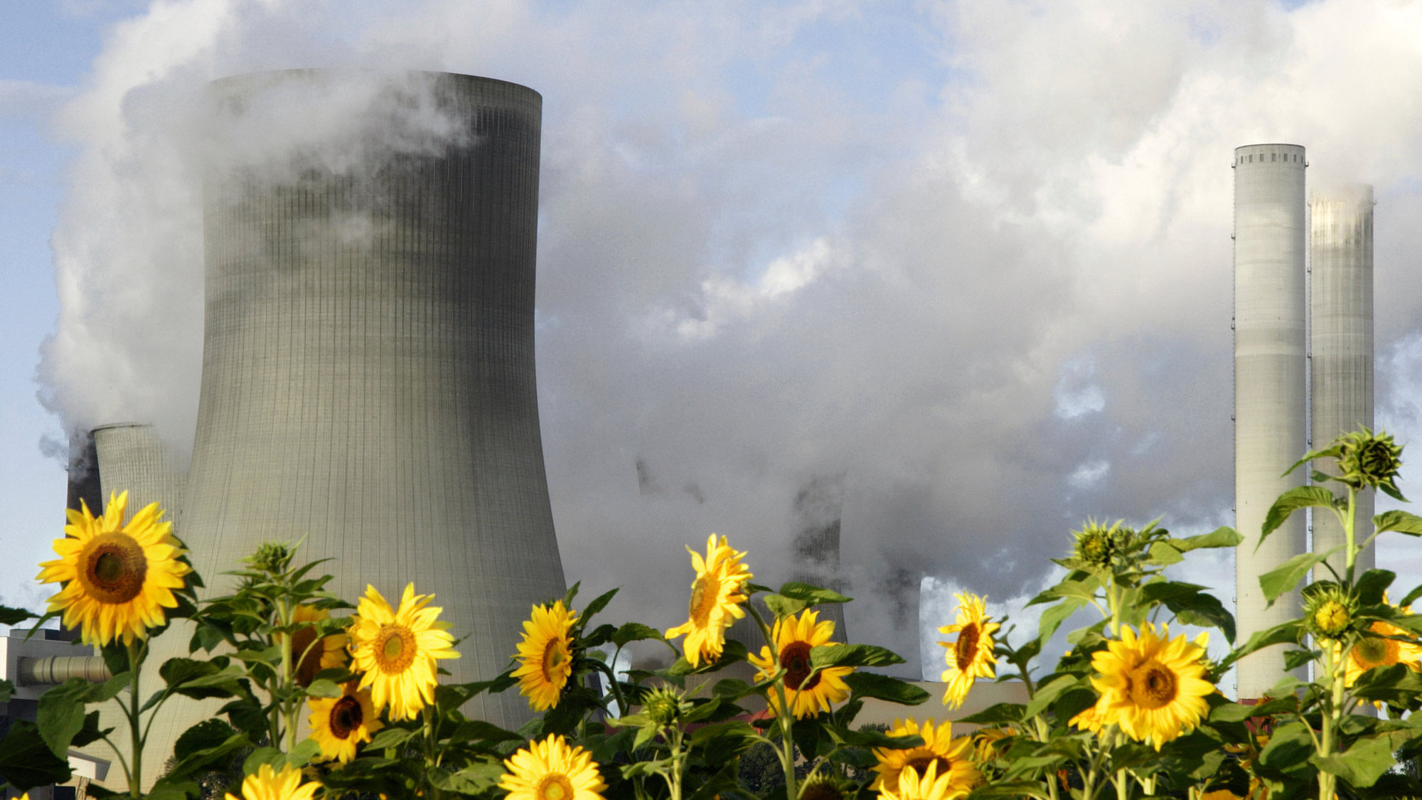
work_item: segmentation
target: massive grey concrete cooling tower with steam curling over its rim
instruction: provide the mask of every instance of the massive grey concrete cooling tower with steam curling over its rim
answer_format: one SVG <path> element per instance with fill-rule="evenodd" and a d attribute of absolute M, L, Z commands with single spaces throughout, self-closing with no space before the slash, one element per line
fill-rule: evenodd
<path fill-rule="evenodd" d="M 485 679 L 565 592 L 533 370 L 542 98 L 469 75 L 215 81 L 206 339 L 181 535 L 213 591 L 263 541 L 356 601 L 414 582 Z M 518 726 L 518 693 L 466 707 Z"/>

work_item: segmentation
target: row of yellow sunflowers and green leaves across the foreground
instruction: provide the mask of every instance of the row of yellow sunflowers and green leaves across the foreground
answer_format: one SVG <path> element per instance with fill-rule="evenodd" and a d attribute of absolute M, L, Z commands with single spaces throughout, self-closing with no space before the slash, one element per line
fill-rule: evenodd
<path fill-rule="evenodd" d="M 1422 518 L 1404 511 L 1355 518 L 1362 491 L 1402 500 L 1401 447 L 1362 430 L 1294 468 L 1314 460 L 1335 461 L 1335 474 L 1311 471 L 1250 538 L 1310 507 L 1338 517 L 1341 554 L 1301 554 L 1260 577 L 1270 602 L 1303 585 L 1295 619 L 1236 641 L 1216 596 L 1167 575 L 1190 551 L 1246 541 L 1231 528 L 1177 538 L 1089 521 L 1057 561 L 1065 575 L 1028 604 L 1039 614 L 1022 643 L 984 598 L 958 595 L 940 628 L 941 698 L 873 670 L 900 663 L 896 653 L 836 641 L 822 611 L 849 598 L 755 584 L 749 555 L 725 537 L 691 551 L 684 623 L 594 623 L 616 591 L 582 602 L 574 585 L 530 609 L 503 675 L 454 683 L 439 662 L 459 656 L 456 642 L 417 586 L 394 604 L 371 586 L 353 605 L 326 589 L 319 562 L 270 542 L 232 572 L 230 595 L 199 598 L 158 505 L 128 517 L 118 494 L 100 517 L 70 511 L 38 575 L 57 584 L 40 623 L 61 616 L 111 678 L 73 678 L 40 699 L 34 722 L 13 720 L 0 777 L 13 791 L 63 783 L 71 747 L 107 742 L 127 794 L 164 800 L 1419 797 L 1422 615 L 1409 606 L 1422 586 L 1394 602 L 1392 572 L 1357 568 L 1376 537 L 1422 535 Z M 31 616 L 0 609 L 0 623 Z M 1044 658 L 1082 616 L 1091 622 L 1065 633 L 1071 649 Z M 758 651 L 727 638 L 747 618 Z M 154 663 L 151 641 L 173 626 L 191 635 L 188 655 Z M 1219 660 L 1206 655 L 1210 636 L 1231 646 Z M 675 662 L 619 669 L 633 642 Z M 1227 670 L 1263 648 L 1287 652 L 1287 675 L 1257 703 L 1231 702 Z M 984 682 L 1020 682 L 1025 702 L 953 713 Z M 0 702 L 13 689 L 0 682 Z M 465 716 L 485 692 L 519 692 L 536 715 L 518 730 Z M 145 776 L 149 726 L 176 696 L 220 710 L 164 753 L 162 774 Z M 857 725 L 866 700 L 903 712 L 887 730 Z"/>

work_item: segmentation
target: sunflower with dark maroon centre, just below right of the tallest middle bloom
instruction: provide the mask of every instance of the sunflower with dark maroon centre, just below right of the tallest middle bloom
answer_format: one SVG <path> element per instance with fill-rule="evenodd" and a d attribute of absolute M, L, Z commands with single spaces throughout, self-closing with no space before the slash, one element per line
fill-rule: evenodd
<path fill-rule="evenodd" d="M 849 686 L 845 676 L 855 670 L 852 666 L 829 666 L 811 675 L 809 651 L 819 645 L 835 645 L 830 636 L 835 635 L 835 621 L 816 622 L 818 612 L 806 609 L 798 618 L 786 616 L 775 621 L 771 639 L 779 655 L 779 665 L 785 668 L 785 699 L 795 712 L 795 719 L 815 716 L 828 712 L 830 703 L 838 703 L 849 698 Z M 759 658 L 751 656 L 751 663 L 759 668 L 755 680 L 765 680 L 775 675 L 775 655 L 771 648 L 762 646 Z M 771 713 L 778 713 L 781 707 L 779 693 L 772 688 L 769 692 Z"/>

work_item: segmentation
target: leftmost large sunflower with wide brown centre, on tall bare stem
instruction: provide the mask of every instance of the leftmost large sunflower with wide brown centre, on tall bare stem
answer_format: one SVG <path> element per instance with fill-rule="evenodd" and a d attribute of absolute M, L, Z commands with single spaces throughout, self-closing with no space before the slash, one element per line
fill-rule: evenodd
<path fill-rule="evenodd" d="M 65 511 L 67 534 L 54 540 L 60 558 L 40 564 L 38 579 L 64 586 L 50 598 L 50 611 L 64 611 L 67 628 L 81 628 L 88 645 L 107 645 L 122 638 L 146 638 L 149 628 L 164 623 L 164 608 L 173 608 L 173 589 L 192 572 L 179 558 L 186 554 L 172 535 L 172 522 L 159 522 L 164 511 L 149 502 L 124 522 L 128 493 L 109 494 L 104 515 L 95 518 L 88 505 Z"/>

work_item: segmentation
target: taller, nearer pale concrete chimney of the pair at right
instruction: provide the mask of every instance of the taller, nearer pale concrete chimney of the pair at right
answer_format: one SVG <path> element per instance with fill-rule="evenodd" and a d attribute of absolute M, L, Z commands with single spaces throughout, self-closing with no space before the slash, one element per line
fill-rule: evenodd
<path fill-rule="evenodd" d="M 1298 612 L 1298 595 L 1264 608 L 1258 575 L 1307 549 L 1303 514 L 1257 551 L 1264 514 L 1304 471 L 1280 477 L 1304 454 L 1304 148 L 1234 149 L 1234 504 L 1244 542 L 1236 549 L 1240 639 Z M 1284 676 L 1284 648 L 1239 665 L 1239 696 L 1258 698 Z"/>

